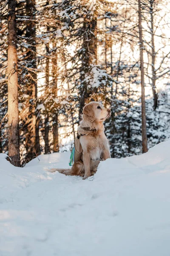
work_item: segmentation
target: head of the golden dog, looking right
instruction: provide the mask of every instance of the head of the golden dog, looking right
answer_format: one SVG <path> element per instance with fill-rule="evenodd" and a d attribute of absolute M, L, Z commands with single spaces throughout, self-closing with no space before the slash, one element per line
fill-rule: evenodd
<path fill-rule="evenodd" d="M 85 105 L 82 113 L 93 121 L 104 122 L 111 116 L 111 109 L 104 108 L 99 102 L 91 102 Z"/>

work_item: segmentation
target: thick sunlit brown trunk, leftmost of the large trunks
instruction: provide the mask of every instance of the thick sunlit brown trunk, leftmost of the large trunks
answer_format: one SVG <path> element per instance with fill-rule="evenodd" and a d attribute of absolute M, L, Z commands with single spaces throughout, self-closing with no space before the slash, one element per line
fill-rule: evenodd
<path fill-rule="evenodd" d="M 8 154 L 20 166 L 15 0 L 8 0 Z"/>

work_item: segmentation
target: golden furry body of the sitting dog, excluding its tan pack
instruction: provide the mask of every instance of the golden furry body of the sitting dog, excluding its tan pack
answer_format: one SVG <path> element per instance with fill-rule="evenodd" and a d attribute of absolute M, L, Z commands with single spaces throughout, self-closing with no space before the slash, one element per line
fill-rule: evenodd
<path fill-rule="evenodd" d="M 75 162 L 71 169 L 51 169 L 50 172 L 80 175 L 86 179 L 96 172 L 100 160 L 111 157 L 103 125 L 103 122 L 110 117 L 111 110 L 103 108 L 99 102 L 91 102 L 85 105 L 82 113 L 82 121 L 78 127 L 83 150 L 81 160 Z"/>

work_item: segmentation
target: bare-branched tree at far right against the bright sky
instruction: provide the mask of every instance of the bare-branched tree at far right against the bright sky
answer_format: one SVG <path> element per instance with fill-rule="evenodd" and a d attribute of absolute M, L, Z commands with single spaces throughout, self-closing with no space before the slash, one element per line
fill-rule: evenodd
<path fill-rule="evenodd" d="M 166 6 L 166 1 L 164 2 Z M 165 32 L 168 29 L 168 10 L 162 10 L 158 0 L 144 0 L 142 9 L 143 22 L 146 23 L 145 50 L 148 55 L 148 63 L 145 74 L 149 79 L 153 92 L 153 110 L 159 107 L 157 84 L 170 73 L 169 69 L 169 39 Z"/>

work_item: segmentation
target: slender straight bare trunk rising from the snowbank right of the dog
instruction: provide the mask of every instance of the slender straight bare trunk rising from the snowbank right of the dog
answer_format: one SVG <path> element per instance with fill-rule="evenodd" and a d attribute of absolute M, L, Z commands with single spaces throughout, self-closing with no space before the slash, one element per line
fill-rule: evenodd
<path fill-rule="evenodd" d="M 139 43 L 140 43 L 140 68 L 141 68 L 141 90 L 142 90 L 142 152 L 147 152 L 147 131 L 146 131 L 146 111 L 144 95 L 144 61 L 143 61 L 143 39 L 142 39 L 142 15 L 141 1 L 138 0 L 139 8 Z"/>

